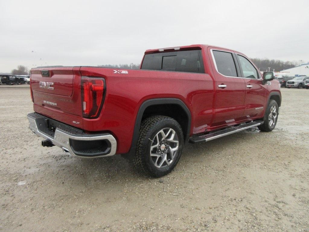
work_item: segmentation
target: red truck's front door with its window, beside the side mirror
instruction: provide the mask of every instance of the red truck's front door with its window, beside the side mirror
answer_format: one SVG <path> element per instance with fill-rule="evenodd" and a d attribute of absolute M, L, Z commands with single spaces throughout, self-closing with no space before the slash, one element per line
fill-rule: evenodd
<path fill-rule="evenodd" d="M 236 57 L 240 73 L 245 81 L 244 115 L 246 118 L 263 117 L 268 97 L 267 84 L 263 84 L 262 76 L 248 58 L 240 54 L 236 54 Z"/>

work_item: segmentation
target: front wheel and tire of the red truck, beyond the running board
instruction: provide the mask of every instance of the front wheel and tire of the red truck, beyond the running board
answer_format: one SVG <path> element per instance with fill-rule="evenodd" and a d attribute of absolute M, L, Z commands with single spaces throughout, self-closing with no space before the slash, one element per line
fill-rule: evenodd
<path fill-rule="evenodd" d="M 269 100 L 263 118 L 264 123 L 258 126 L 260 131 L 272 131 L 275 128 L 278 119 L 278 109 L 277 102 L 275 100 Z"/>

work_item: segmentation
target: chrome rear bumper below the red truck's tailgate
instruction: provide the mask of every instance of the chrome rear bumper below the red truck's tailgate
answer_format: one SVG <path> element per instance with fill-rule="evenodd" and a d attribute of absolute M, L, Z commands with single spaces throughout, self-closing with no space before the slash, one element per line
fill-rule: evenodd
<path fill-rule="evenodd" d="M 62 148 L 62 150 L 70 153 L 71 155 L 83 158 L 94 158 L 113 156 L 116 153 L 117 142 L 114 136 L 111 134 L 89 135 L 82 133 L 79 130 L 77 130 L 78 133 L 74 133 L 74 127 L 67 125 L 63 126 L 63 124 L 60 122 L 59 124 L 62 126 L 59 128 L 57 127 L 53 135 L 52 132 L 47 134 L 44 133 L 44 131 L 39 130 L 39 128 L 42 127 L 42 120 L 48 120 L 48 118 L 36 113 L 28 114 L 27 117 L 29 120 L 29 128 L 32 132 L 34 132 L 39 137 L 49 140 L 52 144 Z M 100 147 L 94 145 L 94 141 L 96 141 L 98 144 L 101 144 Z M 88 147 L 90 142 L 92 144 L 90 146 L 92 147 Z M 82 143 L 83 145 L 81 145 Z"/>

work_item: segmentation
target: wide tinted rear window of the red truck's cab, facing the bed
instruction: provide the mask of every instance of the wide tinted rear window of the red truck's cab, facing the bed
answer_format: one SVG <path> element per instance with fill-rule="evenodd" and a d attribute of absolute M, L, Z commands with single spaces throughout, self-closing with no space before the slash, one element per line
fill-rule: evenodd
<path fill-rule="evenodd" d="M 201 50 L 145 54 L 141 68 L 146 70 L 205 73 Z"/>

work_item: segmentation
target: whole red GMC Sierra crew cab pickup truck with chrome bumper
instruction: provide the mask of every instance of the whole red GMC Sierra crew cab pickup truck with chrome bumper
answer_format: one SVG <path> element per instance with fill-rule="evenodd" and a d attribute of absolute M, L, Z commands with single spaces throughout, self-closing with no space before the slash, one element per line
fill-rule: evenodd
<path fill-rule="evenodd" d="M 79 157 L 130 157 L 155 177 L 169 173 L 187 142 L 251 127 L 272 131 L 280 84 L 244 54 L 210 45 L 146 50 L 140 70 L 38 67 L 29 128 Z"/>

